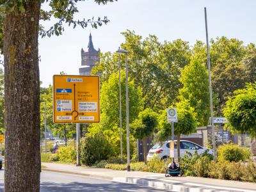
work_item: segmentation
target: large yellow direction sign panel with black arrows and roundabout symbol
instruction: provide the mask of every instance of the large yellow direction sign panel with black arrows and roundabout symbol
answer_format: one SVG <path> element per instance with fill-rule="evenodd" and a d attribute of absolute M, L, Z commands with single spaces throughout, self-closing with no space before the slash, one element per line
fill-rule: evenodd
<path fill-rule="evenodd" d="M 54 123 L 98 123 L 99 77 L 53 76 Z"/>

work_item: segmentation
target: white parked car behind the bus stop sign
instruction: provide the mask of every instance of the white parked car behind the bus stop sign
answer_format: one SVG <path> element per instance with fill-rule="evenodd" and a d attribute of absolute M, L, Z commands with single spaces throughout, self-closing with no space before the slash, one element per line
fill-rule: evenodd
<path fill-rule="evenodd" d="M 209 154 L 213 154 L 213 150 L 207 147 L 202 147 L 200 145 L 197 145 L 196 143 L 193 143 L 191 141 L 186 140 L 180 140 L 180 157 L 184 157 L 186 154 L 186 151 L 191 152 L 192 154 L 195 153 L 197 150 L 198 154 L 202 154 L 205 152 L 205 150 L 209 150 Z M 150 148 L 148 155 L 147 155 L 147 161 L 151 159 L 154 155 L 157 155 L 159 158 L 166 160 L 170 157 L 170 141 L 166 141 L 163 143 L 163 145 L 160 145 L 160 143 L 156 143 L 152 148 Z M 174 141 L 174 156 L 177 157 L 177 140 Z"/>

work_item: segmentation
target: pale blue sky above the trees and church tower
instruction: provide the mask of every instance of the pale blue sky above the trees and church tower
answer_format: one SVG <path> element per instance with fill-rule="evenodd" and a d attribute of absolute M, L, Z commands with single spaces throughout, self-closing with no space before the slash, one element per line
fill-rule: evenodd
<path fill-rule="evenodd" d="M 243 40 L 245 45 L 256 43 L 255 0 L 119 0 L 107 5 L 86 0 L 77 6 L 77 19 L 108 16 L 110 22 L 98 29 L 66 27 L 61 36 L 40 38 L 42 86 L 52 84 L 52 76 L 61 71 L 71 75 L 79 73 L 81 48 L 87 46 L 90 32 L 94 47 L 102 52 L 116 51 L 124 42 L 120 33 L 126 29 L 143 37 L 154 34 L 161 42 L 177 38 L 191 45 L 196 40 L 205 42 L 204 7 L 207 7 L 209 38 L 227 36 Z M 52 23 L 42 24 L 47 28 Z"/>

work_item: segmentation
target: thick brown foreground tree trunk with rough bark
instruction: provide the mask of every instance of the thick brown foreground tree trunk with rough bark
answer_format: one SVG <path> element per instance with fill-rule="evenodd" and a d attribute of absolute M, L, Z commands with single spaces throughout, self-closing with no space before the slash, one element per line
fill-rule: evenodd
<path fill-rule="evenodd" d="M 24 13 L 6 13 L 4 24 L 5 191 L 40 190 L 38 26 L 40 1 Z"/>

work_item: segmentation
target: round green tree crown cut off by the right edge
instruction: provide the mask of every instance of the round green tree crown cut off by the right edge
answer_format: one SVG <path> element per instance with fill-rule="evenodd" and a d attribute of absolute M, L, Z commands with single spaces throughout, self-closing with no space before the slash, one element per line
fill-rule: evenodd
<path fill-rule="evenodd" d="M 224 115 L 230 131 L 250 133 L 256 136 L 256 84 L 247 84 L 244 89 L 236 90 L 227 101 Z"/>

